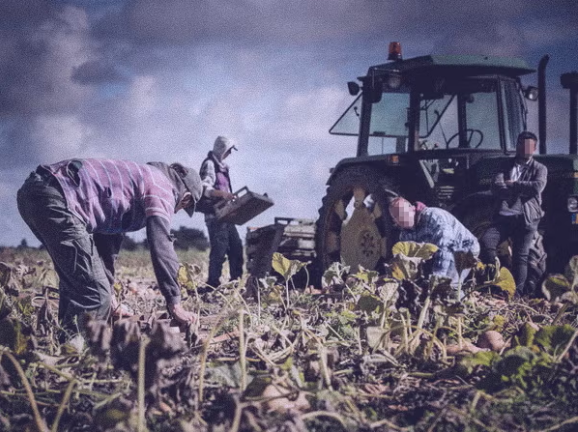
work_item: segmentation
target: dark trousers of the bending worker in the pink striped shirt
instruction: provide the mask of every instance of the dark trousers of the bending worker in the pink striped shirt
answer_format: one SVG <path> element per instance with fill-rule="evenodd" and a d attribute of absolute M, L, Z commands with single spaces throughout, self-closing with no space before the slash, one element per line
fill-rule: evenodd
<path fill-rule="evenodd" d="M 20 215 L 50 254 L 58 273 L 58 317 L 64 330 L 82 330 L 87 314 L 107 319 L 116 257 L 109 252 L 112 247 L 118 253 L 119 236 L 89 233 L 68 210 L 58 182 L 48 174 L 30 174 L 17 200 Z"/>

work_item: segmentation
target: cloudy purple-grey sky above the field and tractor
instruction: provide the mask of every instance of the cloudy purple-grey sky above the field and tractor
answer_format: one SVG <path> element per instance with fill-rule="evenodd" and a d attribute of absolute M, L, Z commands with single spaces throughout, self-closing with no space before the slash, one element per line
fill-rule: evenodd
<path fill-rule="evenodd" d="M 314 219 L 329 169 L 356 152 L 354 137 L 328 133 L 353 101 L 346 83 L 384 63 L 390 41 L 405 58 L 536 67 L 550 54 L 548 145 L 567 151 L 559 76 L 578 69 L 575 0 L 0 0 L 0 245 L 38 245 L 16 208 L 37 165 L 198 168 L 218 135 L 238 143 L 233 187 L 275 201 L 248 226 Z M 202 215 L 180 213 L 174 228 L 204 229 Z"/>

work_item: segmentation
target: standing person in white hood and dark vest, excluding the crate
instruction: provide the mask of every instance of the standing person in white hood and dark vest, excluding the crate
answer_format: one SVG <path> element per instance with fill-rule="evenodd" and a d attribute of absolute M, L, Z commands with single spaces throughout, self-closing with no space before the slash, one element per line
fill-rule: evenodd
<path fill-rule="evenodd" d="M 224 162 L 233 150 L 237 150 L 233 141 L 224 136 L 217 137 L 213 150 L 208 153 L 200 169 L 205 192 L 199 205 L 202 206 L 200 211 L 205 213 L 211 243 L 207 287 L 199 289 L 200 292 L 220 285 L 225 257 L 229 259 L 231 279 L 238 279 L 243 275 L 243 243 L 237 228 L 233 223 L 219 221 L 213 210 L 216 202 L 235 198 L 231 188 L 229 166 Z"/>

